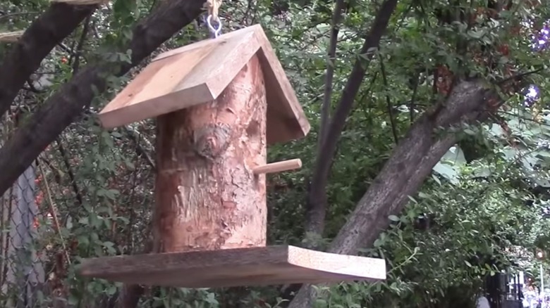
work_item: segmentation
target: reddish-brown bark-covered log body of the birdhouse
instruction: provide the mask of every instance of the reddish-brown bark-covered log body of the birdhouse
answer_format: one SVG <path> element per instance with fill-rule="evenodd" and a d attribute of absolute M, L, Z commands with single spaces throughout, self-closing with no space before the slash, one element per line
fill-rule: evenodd
<path fill-rule="evenodd" d="M 158 117 L 154 251 L 265 246 L 266 112 L 255 56 L 216 101 Z"/>

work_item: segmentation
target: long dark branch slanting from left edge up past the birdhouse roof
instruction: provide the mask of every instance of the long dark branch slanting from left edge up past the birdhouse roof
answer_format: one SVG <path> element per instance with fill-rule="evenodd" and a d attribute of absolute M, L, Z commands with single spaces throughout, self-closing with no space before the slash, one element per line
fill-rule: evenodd
<path fill-rule="evenodd" d="M 138 65 L 164 41 L 202 12 L 204 0 L 167 1 L 157 11 L 135 26 L 133 39 L 127 49 L 132 51 L 131 63 L 109 63 L 103 66 L 87 65 L 71 81 L 42 104 L 28 122 L 17 129 L 11 139 L 0 148 L 0 195 L 30 166 L 49 143 L 88 108 L 96 92 L 105 91 L 105 77 L 126 74 Z M 65 16 L 64 18 L 68 18 Z M 48 27 L 43 25 L 43 27 Z M 34 38 L 38 39 L 38 38 Z"/>

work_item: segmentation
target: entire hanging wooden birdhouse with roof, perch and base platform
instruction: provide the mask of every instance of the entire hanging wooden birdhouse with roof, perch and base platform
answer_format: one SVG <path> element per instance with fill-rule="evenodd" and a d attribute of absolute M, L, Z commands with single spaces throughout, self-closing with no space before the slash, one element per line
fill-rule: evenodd
<path fill-rule="evenodd" d="M 262 27 L 155 58 L 99 114 L 104 127 L 157 118 L 154 252 L 87 259 L 83 276 L 187 288 L 386 278 L 383 259 L 266 246 L 267 144 L 310 124 Z"/>

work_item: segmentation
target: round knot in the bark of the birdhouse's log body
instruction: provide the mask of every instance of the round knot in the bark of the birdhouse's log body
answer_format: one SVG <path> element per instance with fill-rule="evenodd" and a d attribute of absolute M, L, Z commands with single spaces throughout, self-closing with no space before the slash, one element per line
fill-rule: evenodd
<path fill-rule="evenodd" d="M 225 123 L 210 124 L 193 131 L 193 147 L 209 160 L 218 158 L 229 146 L 231 127 Z"/>

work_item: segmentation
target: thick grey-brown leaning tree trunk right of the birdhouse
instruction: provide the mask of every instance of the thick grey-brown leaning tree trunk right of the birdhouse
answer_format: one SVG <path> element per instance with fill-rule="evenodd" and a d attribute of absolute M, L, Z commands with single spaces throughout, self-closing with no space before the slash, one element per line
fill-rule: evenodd
<path fill-rule="evenodd" d="M 334 238 L 329 252 L 355 255 L 359 248 L 370 247 L 388 226 L 391 214 L 400 214 L 408 202 L 432 173 L 432 168 L 453 144 L 456 134 L 438 134 L 439 128 L 449 129 L 460 124 L 487 118 L 487 103 L 496 98 L 482 82 L 461 82 L 446 102 L 419 117 L 408 134 L 393 149 L 389 160 L 348 221 Z M 489 104 L 492 105 L 492 104 Z M 304 285 L 289 307 L 311 307 L 316 294 L 310 285 Z"/>

